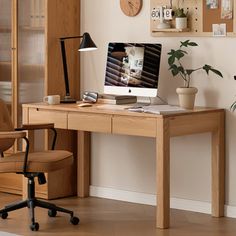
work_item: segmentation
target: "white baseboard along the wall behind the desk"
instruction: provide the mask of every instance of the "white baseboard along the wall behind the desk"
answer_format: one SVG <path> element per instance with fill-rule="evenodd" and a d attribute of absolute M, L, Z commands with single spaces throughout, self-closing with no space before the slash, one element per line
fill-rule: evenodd
<path fill-rule="evenodd" d="M 90 186 L 90 196 L 126 201 L 132 203 L 146 204 L 152 206 L 156 205 L 156 195 L 154 194 L 131 192 L 113 188 Z M 179 210 L 194 211 L 206 214 L 211 213 L 210 202 L 171 198 L 170 206 L 171 208 Z M 236 207 L 225 205 L 225 216 L 236 218 Z"/>

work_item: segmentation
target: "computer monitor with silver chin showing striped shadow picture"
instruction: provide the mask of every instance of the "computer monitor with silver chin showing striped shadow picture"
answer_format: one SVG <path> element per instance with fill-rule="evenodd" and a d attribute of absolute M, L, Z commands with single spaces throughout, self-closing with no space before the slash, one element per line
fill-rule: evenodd
<path fill-rule="evenodd" d="M 104 93 L 155 97 L 161 44 L 109 43 Z"/>

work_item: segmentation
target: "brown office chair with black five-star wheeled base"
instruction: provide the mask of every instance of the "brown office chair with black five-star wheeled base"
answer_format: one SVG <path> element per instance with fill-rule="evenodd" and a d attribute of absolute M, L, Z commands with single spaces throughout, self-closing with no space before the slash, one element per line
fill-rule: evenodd
<path fill-rule="evenodd" d="M 51 129 L 54 133 L 52 150 L 41 152 L 29 152 L 29 140 L 24 130 Z M 11 122 L 11 118 L 6 104 L 0 99 L 0 173 L 17 173 L 22 174 L 28 179 L 28 198 L 18 203 L 12 203 L 0 210 L 0 217 L 6 219 L 8 212 L 28 207 L 31 217 L 30 229 L 37 231 L 39 229 L 38 222 L 35 221 L 34 208 L 42 207 L 48 209 L 48 215 L 55 217 L 57 211 L 70 215 L 70 222 L 73 225 L 79 223 L 79 218 L 74 216 L 73 211 L 58 207 L 52 203 L 38 200 L 35 197 L 34 178 L 38 178 L 39 184 L 45 184 L 46 178 L 44 173 L 65 168 L 73 163 L 73 154 L 68 151 L 54 150 L 57 133 L 53 124 L 34 124 L 23 125 L 22 128 L 15 129 Z M 17 153 L 7 153 L 4 151 L 11 148 L 16 139 L 25 141 L 25 151 Z"/>

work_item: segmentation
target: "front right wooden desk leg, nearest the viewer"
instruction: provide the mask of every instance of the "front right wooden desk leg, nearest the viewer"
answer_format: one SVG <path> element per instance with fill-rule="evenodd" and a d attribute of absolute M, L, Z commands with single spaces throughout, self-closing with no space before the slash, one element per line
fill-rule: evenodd
<path fill-rule="evenodd" d="M 169 227 L 170 218 L 170 136 L 167 119 L 157 122 L 157 219 L 156 227 Z"/>

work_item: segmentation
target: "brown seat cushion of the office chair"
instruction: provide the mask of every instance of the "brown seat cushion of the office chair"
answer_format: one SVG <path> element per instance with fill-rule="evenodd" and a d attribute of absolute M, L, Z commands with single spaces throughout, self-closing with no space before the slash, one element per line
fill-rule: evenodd
<path fill-rule="evenodd" d="M 0 158 L 0 172 L 22 172 L 25 153 L 16 153 Z M 73 163 L 73 154 L 62 150 L 32 152 L 28 155 L 27 172 L 50 172 Z"/>

